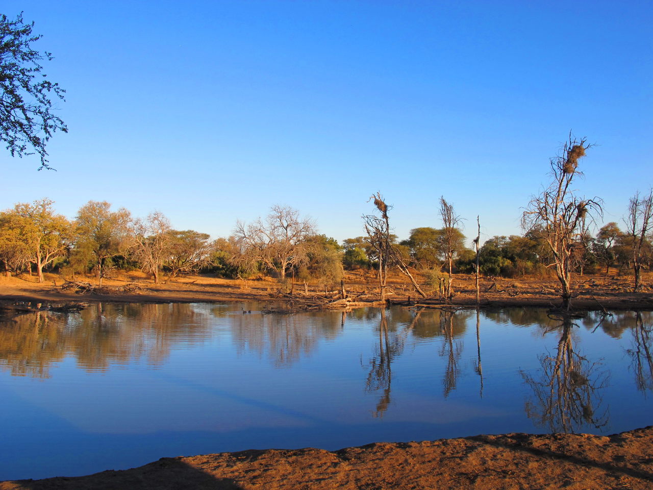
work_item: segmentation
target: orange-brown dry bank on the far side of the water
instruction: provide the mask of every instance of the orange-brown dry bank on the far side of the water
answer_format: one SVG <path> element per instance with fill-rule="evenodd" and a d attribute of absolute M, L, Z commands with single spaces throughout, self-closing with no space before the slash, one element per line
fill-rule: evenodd
<path fill-rule="evenodd" d="M 652 274 L 653 275 L 653 274 Z M 97 286 L 97 278 L 76 277 L 76 281 Z M 19 302 L 224 302 L 224 301 L 266 301 L 283 302 L 310 301 L 311 298 L 338 297 L 338 291 L 329 291 L 319 284 L 310 284 L 308 295 L 303 284 L 295 284 L 293 291 L 281 291 L 278 282 L 272 278 L 255 280 L 232 280 L 209 275 L 194 275 L 175 278 L 166 284 L 153 282 L 140 272 L 121 274 L 110 280 L 103 280 L 104 289 L 91 293 L 75 293 L 62 289 L 65 278 L 58 274 L 46 274 L 46 280 L 39 283 L 35 276 L 0 277 L 0 300 Z M 121 291 L 124 286 L 131 291 Z M 481 278 L 480 306 L 534 306 L 556 308 L 560 306 L 558 285 L 554 279 L 506 279 Z M 129 288 L 127 288 L 129 289 Z M 345 276 L 345 290 L 351 301 L 358 306 L 378 305 L 378 288 L 373 272 L 349 272 Z M 454 306 L 476 306 L 475 280 L 473 276 L 456 276 Z M 415 293 L 402 276 L 392 276 L 387 288 L 390 304 L 404 306 L 441 306 L 445 301 L 437 291 L 430 291 L 427 299 Z M 577 278 L 575 310 L 653 310 L 653 291 L 644 287 L 633 293 L 629 276 L 582 276 Z"/>

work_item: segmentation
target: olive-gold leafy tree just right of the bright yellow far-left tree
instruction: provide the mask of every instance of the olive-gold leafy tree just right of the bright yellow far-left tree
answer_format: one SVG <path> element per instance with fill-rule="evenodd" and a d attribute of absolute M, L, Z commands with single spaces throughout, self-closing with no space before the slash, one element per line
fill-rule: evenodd
<path fill-rule="evenodd" d="M 106 276 L 106 266 L 112 257 L 129 246 L 131 214 L 125 208 L 111 210 L 106 201 L 89 201 L 77 212 L 74 250 L 88 254 L 97 268 L 99 285 Z"/>

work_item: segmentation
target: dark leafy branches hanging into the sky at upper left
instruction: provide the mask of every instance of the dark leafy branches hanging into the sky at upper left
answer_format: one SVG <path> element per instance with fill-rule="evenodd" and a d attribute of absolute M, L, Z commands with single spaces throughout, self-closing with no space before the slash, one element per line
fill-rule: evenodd
<path fill-rule="evenodd" d="M 48 167 L 46 143 L 56 131 L 67 133 L 63 121 L 50 112 L 52 99 L 64 100 L 65 90 L 42 73 L 40 62 L 52 54 L 31 47 L 39 41 L 34 23 L 25 24 L 22 12 L 15 20 L 0 15 L 0 140 L 13 156 L 36 153 Z"/>

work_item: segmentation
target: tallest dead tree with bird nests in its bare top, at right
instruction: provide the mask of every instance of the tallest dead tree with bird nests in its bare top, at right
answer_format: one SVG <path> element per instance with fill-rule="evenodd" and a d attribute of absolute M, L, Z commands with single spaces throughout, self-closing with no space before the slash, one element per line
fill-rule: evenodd
<path fill-rule="evenodd" d="M 574 178 L 583 175 L 578 170 L 578 161 L 590 146 L 586 139 L 576 140 L 569 135 L 560 155 L 550 160 L 549 186 L 531 198 L 522 214 L 524 231 L 537 232 L 547 243 L 553 260 L 549 267 L 556 268 L 565 308 L 569 308 L 571 302 L 575 250 L 583 246 L 587 224 L 595 215 L 602 216 L 601 199 L 577 197 L 571 188 Z"/>

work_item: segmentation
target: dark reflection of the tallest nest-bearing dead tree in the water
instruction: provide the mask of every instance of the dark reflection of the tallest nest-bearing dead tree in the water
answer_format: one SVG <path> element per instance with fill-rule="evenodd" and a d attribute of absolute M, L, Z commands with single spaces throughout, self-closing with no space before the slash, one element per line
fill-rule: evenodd
<path fill-rule="evenodd" d="M 601 410 L 601 389 L 607 385 L 608 374 L 599 370 L 600 362 L 590 363 L 574 350 L 574 326 L 570 319 L 558 326 L 562 332 L 556 355 L 538 356 L 539 376 L 520 371 L 534 393 L 526 400 L 526 415 L 551 433 L 577 433 L 584 425 L 602 429 L 609 420 L 607 408 Z"/>

